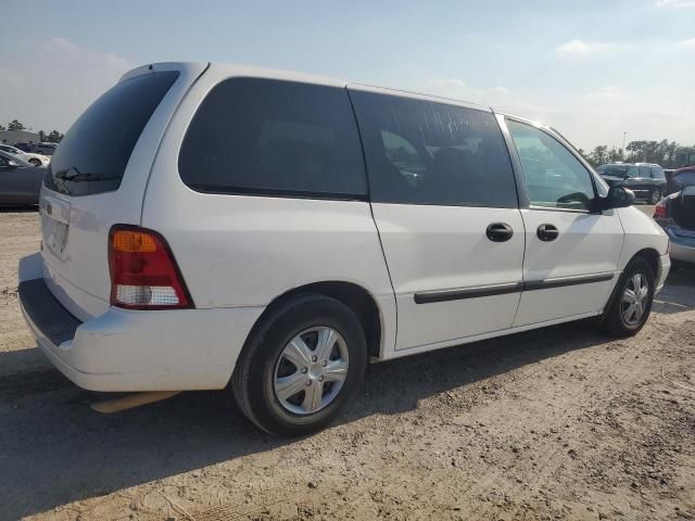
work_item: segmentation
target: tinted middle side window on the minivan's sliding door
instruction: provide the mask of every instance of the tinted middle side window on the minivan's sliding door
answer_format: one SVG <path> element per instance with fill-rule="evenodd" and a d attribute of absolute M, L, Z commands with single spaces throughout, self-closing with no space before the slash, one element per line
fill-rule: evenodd
<path fill-rule="evenodd" d="M 517 206 L 511 163 L 489 112 L 351 91 L 375 202 Z"/>

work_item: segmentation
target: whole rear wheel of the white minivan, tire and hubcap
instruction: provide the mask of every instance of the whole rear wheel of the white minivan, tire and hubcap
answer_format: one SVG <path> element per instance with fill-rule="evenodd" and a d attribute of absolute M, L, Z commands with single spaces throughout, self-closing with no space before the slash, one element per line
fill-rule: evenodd
<path fill-rule="evenodd" d="M 270 434 L 299 436 L 333 421 L 357 392 L 365 334 L 348 306 L 306 294 L 273 310 L 250 336 L 231 380 L 243 414 Z"/>

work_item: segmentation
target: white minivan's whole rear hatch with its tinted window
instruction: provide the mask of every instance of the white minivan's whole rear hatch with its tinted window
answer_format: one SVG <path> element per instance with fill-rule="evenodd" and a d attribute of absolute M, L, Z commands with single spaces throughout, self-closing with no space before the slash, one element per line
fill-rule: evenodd
<path fill-rule="evenodd" d="M 40 200 L 43 277 L 80 320 L 109 307 L 109 231 L 139 225 L 150 168 L 167 124 L 206 64 L 155 64 L 126 74 L 65 134 Z"/>

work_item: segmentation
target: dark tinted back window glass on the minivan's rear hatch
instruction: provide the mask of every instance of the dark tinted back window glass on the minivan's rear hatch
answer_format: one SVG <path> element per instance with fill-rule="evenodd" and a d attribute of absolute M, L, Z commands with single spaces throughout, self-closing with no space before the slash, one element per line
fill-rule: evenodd
<path fill-rule="evenodd" d="M 149 73 L 121 81 L 91 104 L 65 134 L 46 186 L 71 195 L 116 190 L 135 144 L 178 73 Z"/>

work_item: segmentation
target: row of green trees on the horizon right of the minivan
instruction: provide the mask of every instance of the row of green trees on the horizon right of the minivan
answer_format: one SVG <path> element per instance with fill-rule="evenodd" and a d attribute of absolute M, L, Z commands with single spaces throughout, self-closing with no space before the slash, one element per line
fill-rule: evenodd
<path fill-rule="evenodd" d="M 630 141 L 623 149 L 599 144 L 591 152 L 579 149 L 579 152 L 593 166 L 605 163 L 656 163 L 664 168 L 677 168 L 693 163 L 695 145 L 684 147 L 675 141 Z"/>

